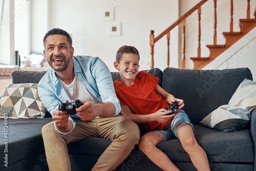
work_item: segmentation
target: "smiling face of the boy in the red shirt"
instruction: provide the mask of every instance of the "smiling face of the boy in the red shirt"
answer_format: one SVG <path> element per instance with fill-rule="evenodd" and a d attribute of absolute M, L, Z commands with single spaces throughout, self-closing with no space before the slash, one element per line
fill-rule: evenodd
<path fill-rule="evenodd" d="M 119 63 L 115 62 L 114 66 L 119 71 L 122 82 L 134 82 L 139 71 L 139 56 L 135 53 L 124 53 Z"/>

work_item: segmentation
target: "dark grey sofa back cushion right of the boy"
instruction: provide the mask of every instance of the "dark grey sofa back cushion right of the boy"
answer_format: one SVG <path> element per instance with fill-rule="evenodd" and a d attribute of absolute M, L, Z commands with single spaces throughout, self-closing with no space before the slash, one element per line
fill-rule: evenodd
<path fill-rule="evenodd" d="M 166 68 L 162 88 L 184 100 L 183 110 L 191 123 L 200 121 L 227 104 L 244 78 L 252 80 L 248 68 L 226 70 L 184 70 Z"/>

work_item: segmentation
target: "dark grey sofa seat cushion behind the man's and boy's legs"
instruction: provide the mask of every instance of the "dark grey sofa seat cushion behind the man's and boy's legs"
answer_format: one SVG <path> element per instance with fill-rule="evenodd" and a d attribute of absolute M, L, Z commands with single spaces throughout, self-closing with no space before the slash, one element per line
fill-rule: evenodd
<path fill-rule="evenodd" d="M 231 133 L 209 129 L 203 125 L 194 125 L 194 129 L 195 137 L 199 145 L 206 152 L 209 162 L 253 163 L 253 143 L 248 129 Z M 86 138 L 69 143 L 69 154 L 101 155 L 110 143 L 110 140 L 102 138 Z M 97 148 L 95 148 L 95 144 L 97 144 Z M 77 148 L 77 146 L 79 146 L 79 148 Z M 172 161 L 191 161 L 179 139 L 161 142 L 157 147 Z M 148 158 L 139 151 L 137 145 L 127 159 L 132 159 L 138 155 L 140 159 L 148 160 Z"/>

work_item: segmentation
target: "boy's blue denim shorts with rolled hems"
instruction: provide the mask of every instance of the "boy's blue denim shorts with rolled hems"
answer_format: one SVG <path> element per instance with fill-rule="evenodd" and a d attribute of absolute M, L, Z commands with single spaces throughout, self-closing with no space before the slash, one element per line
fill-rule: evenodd
<path fill-rule="evenodd" d="M 175 115 L 173 121 L 169 123 L 167 130 L 156 130 L 151 132 L 155 132 L 162 135 L 165 141 L 168 141 L 168 140 L 176 139 L 176 137 L 178 138 L 177 136 L 178 128 L 183 124 L 191 125 L 195 134 L 193 124 L 190 123 L 190 120 L 188 119 L 187 114 L 185 114 L 183 110 L 181 110 L 178 114 Z"/>

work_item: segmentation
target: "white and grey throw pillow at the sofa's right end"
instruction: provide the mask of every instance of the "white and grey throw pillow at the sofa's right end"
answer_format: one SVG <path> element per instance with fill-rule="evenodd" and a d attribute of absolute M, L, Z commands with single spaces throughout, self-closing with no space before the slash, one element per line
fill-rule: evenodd
<path fill-rule="evenodd" d="M 228 104 L 211 112 L 201 123 L 223 132 L 239 131 L 250 123 L 254 108 L 256 108 L 256 82 L 245 78 Z"/>

